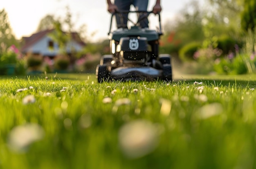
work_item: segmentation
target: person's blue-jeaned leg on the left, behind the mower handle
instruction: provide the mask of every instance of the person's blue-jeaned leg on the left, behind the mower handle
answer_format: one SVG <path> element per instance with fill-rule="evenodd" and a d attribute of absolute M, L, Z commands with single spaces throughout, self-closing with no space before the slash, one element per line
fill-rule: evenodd
<path fill-rule="evenodd" d="M 115 5 L 119 11 L 129 11 L 132 0 L 115 0 Z M 127 28 L 128 14 L 116 14 L 117 28 Z"/>

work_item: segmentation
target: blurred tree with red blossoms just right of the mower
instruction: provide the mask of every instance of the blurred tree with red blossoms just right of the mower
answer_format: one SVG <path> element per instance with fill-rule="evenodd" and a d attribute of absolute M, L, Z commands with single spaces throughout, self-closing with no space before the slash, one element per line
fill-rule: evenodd
<path fill-rule="evenodd" d="M 202 42 L 204 33 L 202 18 L 204 11 L 198 1 L 192 1 L 178 13 L 175 20 L 164 25 L 164 36 L 161 38 L 161 53 L 177 55 L 180 48 L 191 42 Z"/>

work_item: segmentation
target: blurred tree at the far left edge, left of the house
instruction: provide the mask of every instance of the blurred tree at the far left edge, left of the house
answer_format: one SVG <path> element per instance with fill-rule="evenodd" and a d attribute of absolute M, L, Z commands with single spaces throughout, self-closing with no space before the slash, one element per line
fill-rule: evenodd
<path fill-rule="evenodd" d="M 2 9 L 0 10 L 0 53 L 5 50 L 4 48 L 8 48 L 13 44 L 18 47 L 18 41 L 12 32 L 8 14 Z"/>

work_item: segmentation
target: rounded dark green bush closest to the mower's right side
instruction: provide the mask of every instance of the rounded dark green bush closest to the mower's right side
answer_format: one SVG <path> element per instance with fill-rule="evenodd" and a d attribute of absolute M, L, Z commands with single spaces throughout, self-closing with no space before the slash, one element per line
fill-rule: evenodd
<path fill-rule="evenodd" d="M 194 53 L 201 47 L 201 44 L 198 42 L 191 42 L 184 45 L 180 51 L 179 56 L 183 61 L 193 60 Z"/>

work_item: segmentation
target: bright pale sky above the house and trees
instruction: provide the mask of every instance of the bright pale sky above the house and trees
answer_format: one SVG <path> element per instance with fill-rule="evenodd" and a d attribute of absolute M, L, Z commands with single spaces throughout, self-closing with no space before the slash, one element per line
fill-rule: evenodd
<path fill-rule="evenodd" d="M 190 1 L 161 0 L 162 25 L 174 18 L 175 14 Z M 149 0 L 149 11 L 154 4 L 155 0 Z M 40 20 L 47 14 L 64 17 L 66 6 L 70 7 L 75 27 L 86 24 L 88 33 L 97 31 L 94 40 L 107 38 L 111 15 L 107 11 L 106 0 L 2 0 L 0 3 L 0 9 L 4 8 L 7 11 L 13 33 L 18 39 L 35 33 Z"/>

